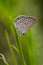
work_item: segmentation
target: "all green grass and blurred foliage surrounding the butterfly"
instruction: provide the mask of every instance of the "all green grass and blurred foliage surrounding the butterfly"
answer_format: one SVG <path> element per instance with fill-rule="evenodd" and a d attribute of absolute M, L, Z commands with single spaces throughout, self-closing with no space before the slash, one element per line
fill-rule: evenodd
<path fill-rule="evenodd" d="M 19 15 L 37 19 L 22 36 L 14 27 L 14 19 Z M 0 65 L 43 64 L 42 19 L 40 0 L 0 0 Z"/>

